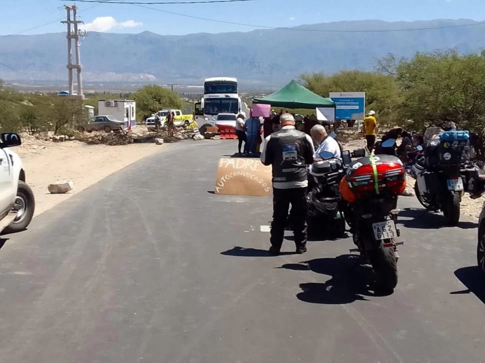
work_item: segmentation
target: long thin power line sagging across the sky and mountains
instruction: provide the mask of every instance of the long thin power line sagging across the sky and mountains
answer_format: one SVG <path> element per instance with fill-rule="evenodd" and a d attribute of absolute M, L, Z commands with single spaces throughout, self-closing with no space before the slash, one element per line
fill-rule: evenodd
<path fill-rule="evenodd" d="M 129 4 L 130 2 L 123 2 L 123 3 Z M 463 26 L 475 26 L 475 25 L 483 25 L 483 24 L 485 24 L 485 21 L 480 21 L 480 22 L 475 22 L 475 23 L 472 23 L 472 24 L 444 25 L 444 26 L 410 28 L 410 29 L 372 29 L 372 30 L 305 29 L 305 28 L 296 28 L 296 27 L 294 27 L 294 28 L 288 28 L 288 27 L 278 27 L 278 26 L 245 24 L 245 23 L 241 23 L 241 22 L 233 22 L 233 21 L 227 21 L 227 20 L 209 19 L 207 17 L 194 16 L 194 15 L 188 15 L 188 14 L 182 14 L 180 12 L 162 10 L 162 9 L 158 9 L 156 7 L 140 5 L 140 4 L 136 4 L 136 3 L 133 3 L 133 5 L 139 6 L 139 7 L 144 7 L 146 9 L 150 9 L 150 10 L 164 12 L 164 13 L 167 13 L 167 14 L 184 16 L 184 17 L 189 17 L 189 18 L 198 19 L 198 20 L 206 20 L 206 21 L 219 22 L 219 23 L 224 23 L 224 24 L 242 25 L 242 26 L 250 26 L 250 27 L 254 27 L 254 28 L 264 28 L 264 29 L 282 29 L 282 30 L 293 30 L 293 31 L 313 31 L 313 32 L 323 32 L 323 33 L 372 33 L 372 32 L 385 33 L 385 32 L 401 32 L 401 31 L 448 29 L 448 28 L 457 28 L 457 27 L 463 27 Z"/>

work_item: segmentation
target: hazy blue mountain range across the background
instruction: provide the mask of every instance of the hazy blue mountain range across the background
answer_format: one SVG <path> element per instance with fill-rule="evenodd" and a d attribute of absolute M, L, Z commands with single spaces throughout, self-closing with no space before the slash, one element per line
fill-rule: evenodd
<path fill-rule="evenodd" d="M 86 81 L 200 84 L 224 75 L 248 86 L 281 85 L 305 72 L 371 70 L 388 53 L 479 51 L 484 33 L 485 22 L 469 19 L 365 20 L 218 34 L 90 32 L 80 49 Z M 0 36 L 0 62 L 6 80 L 65 80 L 65 33 Z"/>

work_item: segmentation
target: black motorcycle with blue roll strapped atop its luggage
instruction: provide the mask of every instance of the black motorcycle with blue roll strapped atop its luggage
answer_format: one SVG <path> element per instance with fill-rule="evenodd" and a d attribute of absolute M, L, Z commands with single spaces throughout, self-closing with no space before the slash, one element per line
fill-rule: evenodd
<path fill-rule="evenodd" d="M 470 162 L 467 134 L 448 131 L 441 139 L 433 139 L 416 159 L 412 175 L 419 203 L 428 210 L 442 211 L 446 225 L 456 226 L 464 192 L 473 197 L 482 192 L 479 168 Z"/>

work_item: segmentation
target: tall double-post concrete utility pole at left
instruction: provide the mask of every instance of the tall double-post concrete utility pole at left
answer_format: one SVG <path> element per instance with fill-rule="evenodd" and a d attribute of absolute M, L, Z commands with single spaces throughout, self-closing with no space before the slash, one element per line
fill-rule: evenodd
<path fill-rule="evenodd" d="M 67 76 L 68 76 L 68 84 L 69 84 L 69 95 L 67 96 L 69 99 L 84 99 L 84 94 L 82 93 L 82 76 L 81 76 L 81 60 L 79 54 L 79 35 L 80 31 L 77 28 L 77 24 L 83 23 L 83 21 L 77 20 L 77 6 L 76 5 L 64 5 L 64 8 L 67 12 L 67 19 L 65 21 L 61 21 L 62 23 L 67 25 Z M 71 20 L 71 11 L 72 11 L 72 20 Z M 72 28 L 73 25 L 73 28 Z M 83 34 L 86 35 L 85 32 Z M 76 61 L 72 63 L 72 40 L 74 40 L 74 48 L 76 53 Z M 72 70 L 75 69 L 77 71 L 77 95 L 74 93 L 74 84 L 72 79 Z"/>

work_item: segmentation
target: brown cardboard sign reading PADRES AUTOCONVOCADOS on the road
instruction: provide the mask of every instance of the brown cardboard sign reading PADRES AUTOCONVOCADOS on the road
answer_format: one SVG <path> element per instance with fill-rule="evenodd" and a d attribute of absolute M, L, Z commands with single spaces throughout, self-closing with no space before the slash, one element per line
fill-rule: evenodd
<path fill-rule="evenodd" d="M 215 177 L 215 194 L 271 195 L 271 166 L 259 159 L 221 158 Z"/>

